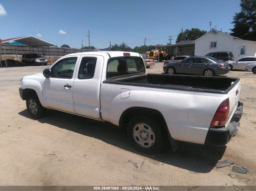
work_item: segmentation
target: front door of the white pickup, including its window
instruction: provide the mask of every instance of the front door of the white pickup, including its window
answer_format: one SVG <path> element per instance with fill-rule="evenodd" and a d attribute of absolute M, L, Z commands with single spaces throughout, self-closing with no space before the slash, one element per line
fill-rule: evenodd
<path fill-rule="evenodd" d="M 75 113 L 72 97 L 76 63 L 80 56 L 58 60 L 51 68 L 52 76 L 43 82 L 42 96 L 47 107 Z"/>

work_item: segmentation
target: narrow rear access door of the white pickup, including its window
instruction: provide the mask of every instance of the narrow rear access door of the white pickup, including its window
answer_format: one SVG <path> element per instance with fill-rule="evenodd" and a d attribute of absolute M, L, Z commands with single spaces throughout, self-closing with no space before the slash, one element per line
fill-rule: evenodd
<path fill-rule="evenodd" d="M 81 56 L 73 84 L 74 109 L 78 115 L 100 119 L 100 86 L 103 56 Z"/>

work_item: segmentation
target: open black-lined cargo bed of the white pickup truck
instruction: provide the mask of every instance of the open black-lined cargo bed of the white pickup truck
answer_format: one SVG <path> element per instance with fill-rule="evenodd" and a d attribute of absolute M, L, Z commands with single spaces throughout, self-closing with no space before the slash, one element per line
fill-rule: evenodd
<path fill-rule="evenodd" d="M 239 78 L 208 77 L 192 75 L 147 74 L 139 77 L 118 79 L 112 78 L 103 83 L 134 85 L 161 89 L 175 89 L 183 91 L 200 91 L 227 94 L 237 83 Z"/>

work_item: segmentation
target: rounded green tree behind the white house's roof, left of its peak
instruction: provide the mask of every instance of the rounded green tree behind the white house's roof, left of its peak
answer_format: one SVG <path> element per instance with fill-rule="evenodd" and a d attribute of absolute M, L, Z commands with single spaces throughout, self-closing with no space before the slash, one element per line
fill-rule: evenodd
<path fill-rule="evenodd" d="M 183 34 L 179 33 L 176 43 L 180 42 L 181 40 L 196 40 L 205 33 L 207 33 L 206 30 L 200 30 L 198 28 L 191 28 L 191 30 L 186 29 Z"/>

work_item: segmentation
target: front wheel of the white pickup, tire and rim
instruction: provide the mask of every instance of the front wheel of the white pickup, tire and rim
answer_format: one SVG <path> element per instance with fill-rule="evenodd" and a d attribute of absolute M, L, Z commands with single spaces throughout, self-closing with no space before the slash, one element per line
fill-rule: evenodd
<path fill-rule="evenodd" d="M 37 95 L 29 94 L 26 97 L 26 106 L 28 113 L 35 119 L 39 119 L 45 116 L 47 109 L 44 108 Z"/>

